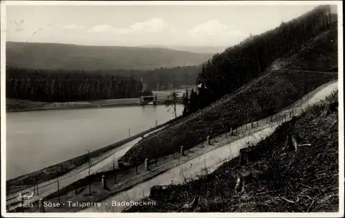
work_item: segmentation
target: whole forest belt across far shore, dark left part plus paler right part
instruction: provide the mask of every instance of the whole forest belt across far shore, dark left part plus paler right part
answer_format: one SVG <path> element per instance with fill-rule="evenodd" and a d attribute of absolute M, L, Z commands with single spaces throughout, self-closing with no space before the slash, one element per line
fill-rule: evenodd
<path fill-rule="evenodd" d="M 121 69 L 71 71 L 8 66 L 6 96 L 43 102 L 138 98 L 142 94 L 151 95 L 151 90 L 193 85 L 199 68 L 172 67 L 145 72 Z"/>

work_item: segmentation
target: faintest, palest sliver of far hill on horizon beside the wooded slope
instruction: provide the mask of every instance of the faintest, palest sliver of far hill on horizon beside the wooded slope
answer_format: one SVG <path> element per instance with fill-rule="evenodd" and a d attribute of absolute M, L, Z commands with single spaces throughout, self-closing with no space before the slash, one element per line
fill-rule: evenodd
<path fill-rule="evenodd" d="M 164 46 L 164 45 L 145 45 L 143 47 L 161 47 L 170 50 L 179 50 L 185 52 L 216 54 L 224 52 L 229 46 Z"/>

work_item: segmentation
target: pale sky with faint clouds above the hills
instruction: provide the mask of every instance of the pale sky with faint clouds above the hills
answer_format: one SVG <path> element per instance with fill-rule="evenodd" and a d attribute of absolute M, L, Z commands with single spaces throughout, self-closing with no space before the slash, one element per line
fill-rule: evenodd
<path fill-rule="evenodd" d="M 7 6 L 6 41 L 228 46 L 315 6 Z"/>

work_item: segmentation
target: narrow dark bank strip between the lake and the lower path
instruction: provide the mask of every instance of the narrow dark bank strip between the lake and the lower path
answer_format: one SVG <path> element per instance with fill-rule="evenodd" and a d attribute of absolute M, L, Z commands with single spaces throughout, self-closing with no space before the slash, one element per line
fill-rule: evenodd
<path fill-rule="evenodd" d="M 28 173 L 26 175 L 21 175 L 19 177 L 16 177 L 14 179 L 9 179 L 6 181 L 6 190 L 7 194 L 13 193 L 17 190 L 20 190 L 20 186 L 33 186 L 35 179 L 39 183 L 49 181 L 50 179 L 55 179 L 56 177 L 59 177 L 61 175 L 64 175 L 73 169 L 77 168 L 78 166 L 81 166 L 82 164 L 85 164 L 88 162 L 89 158 L 95 158 L 99 155 L 102 155 L 103 153 L 106 153 L 108 151 L 111 151 L 112 149 L 115 149 L 122 144 L 125 144 L 127 142 L 130 142 L 131 140 L 134 140 L 135 138 L 139 138 L 142 135 L 145 135 L 146 133 L 149 133 L 150 131 L 154 131 L 156 129 L 159 129 L 161 127 L 164 127 L 167 124 L 171 124 L 180 118 L 170 120 L 168 122 L 165 122 L 164 124 L 160 124 L 157 127 L 154 127 L 152 129 L 148 129 L 147 131 L 143 131 L 141 133 L 138 133 L 137 135 L 132 135 L 130 138 L 126 138 L 124 140 L 121 140 L 119 142 L 116 142 L 114 144 L 110 144 L 108 146 L 105 146 L 101 149 L 97 149 L 95 151 L 92 151 L 89 153 L 89 155 L 80 155 L 78 157 L 72 158 L 70 160 L 66 160 L 65 162 L 61 162 L 59 164 L 55 164 L 52 166 L 48 166 L 46 168 L 43 168 L 39 171 L 34 171 L 32 173 Z"/>

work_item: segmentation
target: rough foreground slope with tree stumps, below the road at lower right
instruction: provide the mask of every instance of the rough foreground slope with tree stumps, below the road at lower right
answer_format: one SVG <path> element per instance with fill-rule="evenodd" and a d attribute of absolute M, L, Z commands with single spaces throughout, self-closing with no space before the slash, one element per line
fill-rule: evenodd
<path fill-rule="evenodd" d="M 326 101 L 337 102 L 337 92 Z M 288 135 L 311 146 L 286 149 Z M 235 157 L 213 173 L 151 193 L 144 200 L 155 206 L 125 212 L 337 212 L 338 140 L 338 111 L 326 102 L 311 106 L 253 147 L 247 164 Z M 237 193 L 240 172 L 253 177 Z M 197 204 L 182 210 L 196 197 Z"/>

